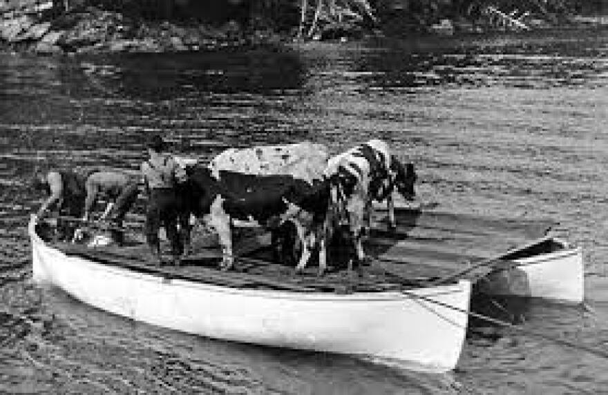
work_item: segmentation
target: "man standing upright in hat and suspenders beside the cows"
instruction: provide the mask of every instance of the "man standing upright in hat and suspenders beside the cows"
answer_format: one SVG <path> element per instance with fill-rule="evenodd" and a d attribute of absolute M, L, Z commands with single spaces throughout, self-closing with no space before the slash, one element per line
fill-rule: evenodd
<path fill-rule="evenodd" d="M 178 163 L 171 154 L 164 153 L 165 145 L 158 135 L 153 136 L 148 145 L 147 161 L 142 163 L 142 175 L 148 195 L 146 207 L 146 241 L 157 265 L 162 263 L 158 232 L 164 227 L 171 243 L 173 263 L 180 264 L 183 243 L 178 232 L 178 219 L 182 205 L 175 191 L 176 176 L 180 172 Z"/>

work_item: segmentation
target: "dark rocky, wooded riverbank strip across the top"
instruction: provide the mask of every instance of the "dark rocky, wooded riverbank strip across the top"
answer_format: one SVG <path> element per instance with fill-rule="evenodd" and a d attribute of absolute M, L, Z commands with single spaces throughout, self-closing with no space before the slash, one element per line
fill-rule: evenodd
<path fill-rule="evenodd" d="M 0 0 L 0 42 L 35 52 L 165 52 L 531 30 L 604 8 L 602 0 Z"/>

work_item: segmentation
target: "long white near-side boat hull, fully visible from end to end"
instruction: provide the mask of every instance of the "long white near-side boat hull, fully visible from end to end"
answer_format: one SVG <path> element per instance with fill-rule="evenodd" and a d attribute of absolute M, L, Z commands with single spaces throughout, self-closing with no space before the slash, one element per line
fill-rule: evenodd
<path fill-rule="evenodd" d="M 207 270 L 207 281 L 178 270 L 68 255 L 29 224 L 33 278 L 99 309 L 191 334 L 277 347 L 354 354 L 413 369 L 457 364 L 468 323 L 471 282 L 381 292 L 272 288 L 253 275 Z M 218 285 L 218 278 L 233 286 Z M 280 285 L 278 285 L 280 287 Z"/>

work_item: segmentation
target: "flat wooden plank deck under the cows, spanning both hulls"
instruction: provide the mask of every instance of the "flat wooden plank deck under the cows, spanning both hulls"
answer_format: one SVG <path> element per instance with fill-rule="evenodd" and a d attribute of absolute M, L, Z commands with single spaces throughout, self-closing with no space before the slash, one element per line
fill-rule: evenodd
<path fill-rule="evenodd" d="M 140 272 L 171 278 L 187 278 L 217 285 L 296 292 L 374 292 L 420 287 L 468 278 L 473 283 L 489 272 L 513 265 L 513 259 L 542 252 L 553 252 L 558 243 L 547 238 L 555 223 L 496 219 L 463 214 L 397 208 L 397 230 L 386 227 L 386 211 L 376 210 L 372 231 L 365 243 L 370 259 L 356 272 L 348 272 L 345 262 L 348 245 L 336 240 L 328 251 L 329 271 L 316 276 L 316 259 L 302 274 L 292 266 L 274 263 L 267 232 L 238 228 L 234 232 L 235 269 L 217 269 L 221 251 L 216 236 L 193 232 L 193 253 L 184 257 L 180 267 L 165 264 L 155 267 L 146 258 L 147 248 L 141 235 L 127 234 L 123 247 L 87 247 L 82 244 L 53 243 L 70 255 L 129 267 Z M 138 238 L 135 236 L 139 236 Z M 139 239 L 139 241 L 137 241 Z M 167 248 L 165 246 L 165 248 Z M 466 273 L 462 270 L 471 269 Z"/>

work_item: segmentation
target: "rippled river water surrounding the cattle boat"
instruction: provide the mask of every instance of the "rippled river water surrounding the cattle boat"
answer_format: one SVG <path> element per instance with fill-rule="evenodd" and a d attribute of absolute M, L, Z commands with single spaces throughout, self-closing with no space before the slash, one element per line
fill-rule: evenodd
<path fill-rule="evenodd" d="M 554 219 L 585 251 L 586 306 L 520 301 L 527 330 L 608 350 L 608 31 L 197 54 L 0 55 L 0 392 L 608 394 L 608 361 L 480 327 L 449 374 L 275 350 L 135 323 L 30 281 L 27 188 L 41 168 L 137 168 L 176 152 L 372 137 L 441 211 Z M 505 313 L 507 314 L 507 313 Z"/>

